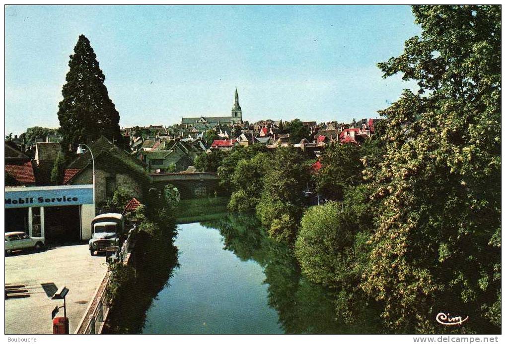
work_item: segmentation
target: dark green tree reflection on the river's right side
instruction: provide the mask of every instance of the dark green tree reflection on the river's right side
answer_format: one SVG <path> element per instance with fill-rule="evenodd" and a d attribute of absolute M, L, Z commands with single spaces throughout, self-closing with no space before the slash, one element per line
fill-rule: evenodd
<path fill-rule="evenodd" d="M 254 217 L 229 215 L 201 223 L 217 228 L 224 249 L 243 261 L 254 260 L 264 268 L 269 306 L 278 313 L 285 333 L 368 333 L 372 324 L 349 324 L 335 314 L 332 291 L 308 281 L 284 244 L 275 242 Z"/>

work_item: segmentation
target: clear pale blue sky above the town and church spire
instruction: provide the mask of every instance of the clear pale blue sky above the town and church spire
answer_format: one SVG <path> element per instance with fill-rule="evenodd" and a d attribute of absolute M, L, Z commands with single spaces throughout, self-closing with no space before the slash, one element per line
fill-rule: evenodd
<path fill-rule="evenodd" d="M 421 32 L 408 6 L 9 6 L 5 131 L 58 127 L 69 56 L 87 36 L 120 126 L 182 117 L 351 121 L 415 89 L 378 62 Z"/>

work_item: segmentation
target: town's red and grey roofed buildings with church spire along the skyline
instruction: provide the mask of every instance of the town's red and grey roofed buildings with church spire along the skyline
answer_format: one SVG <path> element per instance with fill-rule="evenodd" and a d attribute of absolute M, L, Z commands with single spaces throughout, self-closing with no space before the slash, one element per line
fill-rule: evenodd
<path fill-rule="evenodd" d="M 183 117 L 180 124 L 124 127 L 121 134 L 130 148 L 130 152 L 124 153 L 144 166 L 146 172 L 178 173 L 191 168 L 200 154 L 254 144 L 265 145 L 268 149 L 293 144 L 317 159 L 333 142 L 360 145 L 374 135 L 374 126 L 380 120 L 364 118 L 352 123 L 317 123 L 266 119 L 249 123 L 243 121 L 236 88 L 230 116 Z M 57 129 L 41 127 L 29 128 L 19 137 L 7 136 L 9 149 L 6 149 L 5 169 L 12 182 L 16 185 L 51 184 L 51 172 L 62 150 L 61 140 Z M 115 146 L 113 140 L 105 137 L 100 142 Z M 65 169 L 62 182 L 69 183 L 77 172 L 75 168 Z"/>

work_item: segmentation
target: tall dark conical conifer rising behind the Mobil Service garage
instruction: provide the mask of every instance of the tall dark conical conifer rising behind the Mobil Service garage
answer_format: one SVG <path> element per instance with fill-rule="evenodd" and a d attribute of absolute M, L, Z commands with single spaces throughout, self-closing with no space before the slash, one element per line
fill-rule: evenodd
<path fill-rule="evenodd" d="M 119 114 L 109 98 L 105 76 L 90 41 L 80 35 L 68 63 L 70 70 L 63 85 L 58 119 L 63 135 L 62 148 L 90 143 L 101 135 L 123 145 Z"/>

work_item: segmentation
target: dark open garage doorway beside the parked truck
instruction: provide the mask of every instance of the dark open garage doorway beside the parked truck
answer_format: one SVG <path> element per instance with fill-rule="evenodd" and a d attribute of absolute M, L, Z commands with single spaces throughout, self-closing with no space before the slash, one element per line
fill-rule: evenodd
<path fill-rule="evenodd" d="M 79 206 L 46 207 L 44 211 L 47 244 L 65 244 L 80 241 Z"/>

